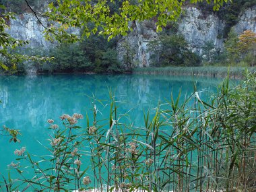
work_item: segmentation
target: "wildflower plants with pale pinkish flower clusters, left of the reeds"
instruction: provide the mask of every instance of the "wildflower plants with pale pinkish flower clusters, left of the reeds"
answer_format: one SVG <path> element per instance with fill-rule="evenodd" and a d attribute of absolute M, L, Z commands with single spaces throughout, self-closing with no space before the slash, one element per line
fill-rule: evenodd
<path fill-rule="evenodd" d="M 60 119 L 63 123 L 62 127 L 57 124 L 53 124 L 53 119 L 48 119 L 50 124 L 49 129 L 53 131 L 49 144 L 51 148 L 48 148 L 49 158 L 44 156 L 40 157 L 40 160 L 36 156 L 31 156 L 26 152 L 26 148 L 16 149 L 14 154 L 18 156 L 20 162 L 11 162 L 9 168 L 15 169 L 20 174 L 18 181 L 9 183 L 5 180 L 7 191 L 15 191 L 22 189 L 24 191 L 69 191 L 84 190 L 90 184 L 90 177 L 84 177 L 85 170 L 82 170 L 82 154 L 79 153 L 80 142 L 84 139 L 81 135 L 76 135 L 75 131 L 81 129 L 76 124 L 83 119 L 83 115 L 75 113 L 74 115 L 61 115 Z M 9 129 L 5 128 L 9 131 Z M 11 136 L 16 137 L 13 131 L 10 132 Z M 15 132 L 16 133 L 16 132 Z M 12 137 L 12 138 L 13 138 Z M 34 177 L 32 179 L 26 178 L 22 167 L 30 164 Z M 50 164 L 51 166 L 46 166 Z M 28 166 L 26 167 L 28 169 Z M 30 170 L 31 171 L 31 170 Z M 16 185 L 15 185 L 16 184 Z M 1 189 L 1 187 L 0 187 Z"/>

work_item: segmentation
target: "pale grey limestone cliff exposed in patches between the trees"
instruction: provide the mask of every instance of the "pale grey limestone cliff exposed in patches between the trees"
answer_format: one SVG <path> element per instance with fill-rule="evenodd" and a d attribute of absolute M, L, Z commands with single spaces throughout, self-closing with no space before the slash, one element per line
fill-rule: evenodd
<path fill-rule="evenodd" d="M 256 7 L 251 7 L 239 16 L 238 23 L 233 27 L 238 34 L 244 30 L 256 32 L 255 10 Z M 47 25 L 46 20 L 41 19 Z M 29 46 L 32 49 L 39 48 L 47 51 L 55 46 L 55 43 L 44 39 L 42 33 L 44 28 L 32 13 L 18 15 L 17 20 L 10 21 L 10 26 L 9 34 L 15 38 L 29 40 Z M 195 7 L 186 7 L 178 23 L 178 31 L 184 35 L 191 51 L 201 55 L 206 42 L 213 42 L 215 49 L 220 51 L 223 49 L 224 26 L 224 21 L 214 13 L 205 14 Z M 154 21 L 134 22 L 131 24 L 131 28 L 133 31 L 117 43 L 119 60 L 126 67 L 148 67 L 151 64 L 148 44 L 158 38 Z"/>

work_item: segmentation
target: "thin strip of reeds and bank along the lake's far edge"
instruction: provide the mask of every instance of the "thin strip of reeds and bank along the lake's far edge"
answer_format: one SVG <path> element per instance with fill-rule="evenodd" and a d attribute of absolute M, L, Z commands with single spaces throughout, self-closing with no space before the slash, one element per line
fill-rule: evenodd
<path fill-rule="evenodd" d="M 45 75 L 45 74 L 137 74 L 137 75 L 177 75 L 177 76 L 201 76 L 201 77 L 226 77 L 229 73 L 231 79 L 243 79 L 245 77 L 245 71 L 253 73 L 256 71 L 256 67 L 137 67 L 134 69 L 121 69 L 120 71 L 19 71 L 18 73 L 12 73 L 11 71 L 2 71 L 0 75 Z"/>

